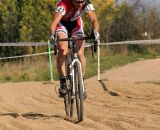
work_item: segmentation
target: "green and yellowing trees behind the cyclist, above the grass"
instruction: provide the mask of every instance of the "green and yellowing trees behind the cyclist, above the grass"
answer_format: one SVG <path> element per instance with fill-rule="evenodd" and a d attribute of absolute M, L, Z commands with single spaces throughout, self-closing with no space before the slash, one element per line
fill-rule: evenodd
<path fill-rule="evenodd" d="M 135 5 L 114 5 L 114 0 L 91 0 L 100 23 L 101 42 L 160 37 L 160 16 L 136 0 Z M 0 42 L 47 41 L 56 0 L 1 0 Z M 83 16 L 85 31 L 92 28 Z M 144 36 L 147 32 L 147 36 Z M 130 49 L 138 48 L 133 46 Z M 46 50 L 42 47 L 0 47 L 0 56 L 22 55 Z M 117 49 L 116 49 L 117 51 Z"/>

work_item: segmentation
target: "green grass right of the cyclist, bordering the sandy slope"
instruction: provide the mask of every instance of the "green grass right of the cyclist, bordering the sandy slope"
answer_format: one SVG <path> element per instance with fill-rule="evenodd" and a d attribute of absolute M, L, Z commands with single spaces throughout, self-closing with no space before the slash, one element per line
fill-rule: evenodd
<path fill-rule="evenodd" d="M 103 73 L 105 70 L 111 69 L 117 66 L 123 66 L 128 63 L 138 61 L 140 59 L 152 59 L 160 56 L 160 52 L 151 52 L 145 54 L 103 54 L 104 49 L 102 49 L 102 55 L 100 56 L 100 70 Z M 87 59 L 86 67 L 86 77 L 89 78 L 97 74 L 97 57 Z"/>

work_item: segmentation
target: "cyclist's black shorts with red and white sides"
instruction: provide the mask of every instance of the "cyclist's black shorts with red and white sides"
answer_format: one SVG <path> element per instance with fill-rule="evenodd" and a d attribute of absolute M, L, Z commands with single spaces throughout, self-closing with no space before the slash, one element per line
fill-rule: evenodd
<path fill-rule="evenodd" d="M 66 35 L 80 35 L 84 36 L 83 21 L 79 17 L 75 21 L 60 21 L 56 27 L 56 31 L 59 33 L 65 33 Z"/>

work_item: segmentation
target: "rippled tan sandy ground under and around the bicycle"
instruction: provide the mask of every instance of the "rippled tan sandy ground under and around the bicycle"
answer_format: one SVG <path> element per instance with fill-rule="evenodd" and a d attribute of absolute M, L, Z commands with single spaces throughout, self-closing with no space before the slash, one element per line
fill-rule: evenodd
<path fill-rule="evenodd" d="M 66 120 L 58 82 L 0 84 L 0 130 L 160 130 L 160 58 L 85 81 L 84 121 Z"/>

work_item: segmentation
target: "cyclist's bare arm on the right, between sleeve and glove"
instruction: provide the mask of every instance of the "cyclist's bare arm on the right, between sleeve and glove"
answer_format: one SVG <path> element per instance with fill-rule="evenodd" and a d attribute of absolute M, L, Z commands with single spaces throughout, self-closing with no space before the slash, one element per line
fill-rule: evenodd
<path fill-rule="evenodd" d="M 92 23 L 93 29 L 96 32 L 98 32 L 99 31 L 99 22 L 97 20 L 97 16 L 96 16 L 95 12 L 94 11 L 90 11 L 87 14 L 88 14 L 89 19 L 90 19 L 90 21 Z"/>

